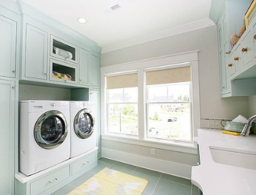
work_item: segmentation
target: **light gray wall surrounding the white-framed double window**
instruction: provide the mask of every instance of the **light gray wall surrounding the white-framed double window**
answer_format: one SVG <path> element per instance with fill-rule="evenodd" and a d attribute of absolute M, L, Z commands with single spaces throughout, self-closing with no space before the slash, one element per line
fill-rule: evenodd
<path fill-rule="evenodd" d="M 247 97 L 220 99 L 220 81 L 218 67 L 218 43 L 216 27 L 210 26 L 183 33 L 169 38 L 154 40 L 149 43 L 135 45 L 113 52 L 102 54 L 102 67 L 118 65 L 124 62 L 144 60 L 152 57 L 161 57 L 164 55 L 187 52 L 191 50 L 200 50 L 199 52 L 199 82 L 200 82 L 200 104 L 201 118 L 212 119 L 232 119 L 242 114 L 248 116 Z M 123 143 L 102 140 L 102 147 L 115 148 L 134 154 L 146 155 L 149 147 L 127 145 Z M 178 152 L 159 150 L 156 158 L 166 160 L 166 156 L 171 156 L 168 160 L 171 162 L 180 162 L 186 165 L 193 165 L 196 162 L 196 155 L 182 153 L 182 158 Z"/>

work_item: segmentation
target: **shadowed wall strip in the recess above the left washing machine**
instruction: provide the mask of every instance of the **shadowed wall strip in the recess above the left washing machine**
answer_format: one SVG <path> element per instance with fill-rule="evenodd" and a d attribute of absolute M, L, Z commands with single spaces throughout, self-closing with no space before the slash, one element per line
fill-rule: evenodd
<path fill-rule="evenodd" d="M 70 101 L 70 89 L 20 84 L 18 99 Z"/>

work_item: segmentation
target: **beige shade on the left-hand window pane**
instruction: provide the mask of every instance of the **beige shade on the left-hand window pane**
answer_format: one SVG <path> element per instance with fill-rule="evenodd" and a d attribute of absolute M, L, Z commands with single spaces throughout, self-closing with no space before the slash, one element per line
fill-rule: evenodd
<path fill-rule="evenodd" d="M 107 77 L 107 89 L 118 89 L 127 87 L 138 87 L 137 73 Z"/>

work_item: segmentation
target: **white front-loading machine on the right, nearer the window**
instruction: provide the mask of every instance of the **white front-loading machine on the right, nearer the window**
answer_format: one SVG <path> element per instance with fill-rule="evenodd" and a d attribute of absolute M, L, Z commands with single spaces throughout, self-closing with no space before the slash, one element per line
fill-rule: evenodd
<path fill-rule="evenodd" d="M 70 101 L 70 157 L 96 147 L 95 109 L 92 101 Z"/>

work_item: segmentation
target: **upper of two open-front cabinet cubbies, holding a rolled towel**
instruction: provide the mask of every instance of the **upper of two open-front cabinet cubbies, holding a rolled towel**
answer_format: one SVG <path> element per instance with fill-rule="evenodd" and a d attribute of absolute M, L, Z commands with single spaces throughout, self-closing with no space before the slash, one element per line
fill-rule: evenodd
<path fill-rule="evenodd" d="M 54 35 L 50 35 L 50 55 L 78 64 L 78 47 Z"/>

